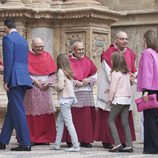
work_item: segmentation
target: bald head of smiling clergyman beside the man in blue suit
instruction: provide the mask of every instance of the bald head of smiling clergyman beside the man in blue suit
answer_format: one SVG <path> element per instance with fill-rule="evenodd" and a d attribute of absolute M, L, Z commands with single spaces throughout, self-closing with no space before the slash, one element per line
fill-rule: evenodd
<path fill-rule="evenodd" d="M 42 54 L 44 49 L 44 42 L 41 38 L 36 37 L 32 40 L 32 50 L 35 54 Z"/>

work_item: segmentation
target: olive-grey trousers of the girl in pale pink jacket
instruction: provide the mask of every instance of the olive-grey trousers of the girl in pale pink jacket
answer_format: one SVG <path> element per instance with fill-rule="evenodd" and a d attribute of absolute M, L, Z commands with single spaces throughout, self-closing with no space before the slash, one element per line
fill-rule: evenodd
<path fill-rule="evenodd" d="M 111 105 L 108 122 L 109 122 L 111 135 L 114 139 L 115 145 L 121 144 L 121 141 L 120 141 L 120 138 L 118 135 L 118 131 L 117 131 L 117 128 L 115 125 L 115 119 L 118 116 L 118 114 L 120 113 L 121 123 L 124 128 L 124 132 L 125 132 L 126 146 L 132 147 L 132 138 L 131 138 L 131 132 L 130 132 L 129 122 L 128 122 L 129 107 L 130 107 L 130 105 L 121 105 L 121 104 L 117 104 L 117 105 L 112 104 Z"/>

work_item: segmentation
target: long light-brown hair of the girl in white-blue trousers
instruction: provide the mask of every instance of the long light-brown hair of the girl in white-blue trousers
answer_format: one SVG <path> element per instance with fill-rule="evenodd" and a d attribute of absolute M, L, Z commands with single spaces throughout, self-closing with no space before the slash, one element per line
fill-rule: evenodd
<path fill-rule="evenodd" d="M 70 61 L 67 54 L 59 54 L 57 57 L 58 70 L 62 69 L 68 79 L 73 79 L 73 72 L 71 70 Z"/>

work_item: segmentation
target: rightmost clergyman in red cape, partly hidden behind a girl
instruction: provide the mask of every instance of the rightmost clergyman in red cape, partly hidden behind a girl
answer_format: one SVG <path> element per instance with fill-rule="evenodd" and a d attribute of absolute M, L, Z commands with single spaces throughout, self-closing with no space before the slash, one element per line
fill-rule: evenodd
<path fill-rule="evenodd" d="M 95 140 L 102 141 L 103 147 L 111 148 L 114 143 L 108 125 L 108 117 L 109 117 L 109 108 L 108 108 L 108 95 L 106 95 L 105 91 L 109 88 L 110 82 L 110 69 L 112 66 L 111 63 L 111 55 L 114 52 L 122 52 L 124 53 L 124 57 L 129 68 L 130 73 L 136 72 L 135 67 L 135 53 L 127 47 L 128 45 L 128 37 L 127 34 L 123 31 L 120 31 L 116 34 L 115 43 L 111 44 L 110 47 L 103 51 L 101 55 L 101 69 L 99 73 L 99 84 L 98 84 L 98 96 L 97 96 L 97 119 L 95 126 Z M 132 77 L 132 75 L 131 75 Z M 132 140 L 135 138 L 135 130 L 133 123 L 132 111 L 129 112 L 129 124 L 131 129 Z M 119 131 L 119 136 L 121 138 L 121 143 L 125 143 L 124 131 L 121 125 L 120 116 L 116 119 L 116 125 Z"/>

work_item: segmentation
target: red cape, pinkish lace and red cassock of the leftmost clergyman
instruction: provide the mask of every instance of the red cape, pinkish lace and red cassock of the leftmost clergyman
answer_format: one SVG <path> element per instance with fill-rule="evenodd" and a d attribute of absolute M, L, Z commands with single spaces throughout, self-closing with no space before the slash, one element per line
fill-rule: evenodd
<path fill-rule="evenodd" d="M 31 75 L 47 76 L 56 72 L 56 64 L 54 60 L 51 55 L 45 51 L 40 55 L 35 55 L 32 51 L 29 51 L 28 63 Z M 50 105 L 45 103 L 45 101 L 47 102 L 49 99 L 48 96 L 50 95 L 47 91 L 40 92 L 35 86 L 33 89 L 27 91 L 25 95 L 24 103 L 30 131 L 30 139 L 33 143 L 52 143 L 55 141 L 55 116 L 51 107 L 49 107 Z M 42 97 L 44 98 L 42 99 Z"/>

